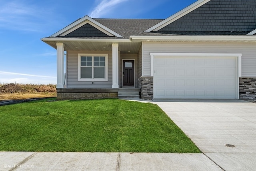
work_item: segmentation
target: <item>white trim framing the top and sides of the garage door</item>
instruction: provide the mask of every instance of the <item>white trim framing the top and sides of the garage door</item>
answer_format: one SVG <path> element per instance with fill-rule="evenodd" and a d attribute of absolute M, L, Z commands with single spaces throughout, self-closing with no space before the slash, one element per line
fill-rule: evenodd
<path fill-rule="evenodd" d="M 209 54 L 209 53 L 150 53 L 150 76 L 154 77 L 154 60 L 155 58 L 158 57 L 173 57 L 173 58 L 194 58 L 194 57 L 210 57 L 210 58 L 236 58 L 236 63 L 237 63 L 237 70 L 236 70 L 236 75 L 238 78 L 236 78 L 236 98 L 239 99 L 239 77 L 242 76 L 242 54 Z"/>

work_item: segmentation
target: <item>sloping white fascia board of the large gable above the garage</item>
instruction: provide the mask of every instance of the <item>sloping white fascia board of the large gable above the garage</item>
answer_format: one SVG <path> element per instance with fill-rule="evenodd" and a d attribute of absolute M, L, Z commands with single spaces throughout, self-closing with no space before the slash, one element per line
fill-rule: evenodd
<path fill-rule="evenodd" d="M 167 26 L 168 24 L 171 24 L 172 22 L 178 20 L 179 18 L 181 18 L 181 17 L 185 16 L 186 14 L 190 13 L 191 11 L 195 10 L 196 8 L 206 4 L 209 1 L 210 0 L 198 0 L 195 3 L 191 4 L 190 6 L 184 8 L 183 10 L 177 12 L 176 14 L 170 16 L 169 18 L 166 18 L 162 22 L 156 24 L 155 26 L 149 28 L 148 30 L 146 30 L 144 32 L 158 31 L 161 28 L 164 28 L 165 26 Z"/>

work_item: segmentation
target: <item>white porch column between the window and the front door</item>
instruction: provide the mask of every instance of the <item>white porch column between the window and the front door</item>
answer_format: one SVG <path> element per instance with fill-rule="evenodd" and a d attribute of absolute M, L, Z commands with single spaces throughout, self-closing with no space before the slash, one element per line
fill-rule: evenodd
<path fill-rule="evenodd" d="M 119 88 L 119 53 L 118 44 L 112 44 L 112 88 Z"/>

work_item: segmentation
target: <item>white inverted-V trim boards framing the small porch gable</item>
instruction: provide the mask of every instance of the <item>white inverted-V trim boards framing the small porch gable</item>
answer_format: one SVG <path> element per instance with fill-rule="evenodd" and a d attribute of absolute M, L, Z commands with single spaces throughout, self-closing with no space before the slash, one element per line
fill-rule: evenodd
<path fill-rule="evenodd" d="M 107 28 L 106 26 L 100 24 L 99 22 L 96 22 L 95 20 L 93 20 L 92 18 L 90 18 L 89 16 L 84 16 L 83 18 L 81 18 L 80 20 L 77 20 L 76 22 L 70 24 L 69 26 L 63 28 L 62 30 L 54 33 L 52 36 L 50 37 L 56 37 L 59 35 L 64 34 L 65 32 L 67 32 L 68 30 L 72 29 L 73 27 L 75 27 L 76 29 L 83 26 L 84 24 L 86 24 L 87 22 L 85 22 L 86 20 L 90 21 L 90 23 L 93 23 L 94 26 L 97 26 L 97 29 L 99 29 L 100 31 L 104 32 L 104 33 L 109 33 L 112 34 L 113 36 L 116 36 L 118 38 L 123 38 L 123 36 L 121 36 L 120 34 L 117 34 L 116 32 L 114 32 L 113 30 L 110 30 L 109 28 Z M 78 25 L 78 26 L 77 26 Z M 73 29 L 72 29 L 73 30 Z M 74 31 L 74 30 L 73 30 Z"/>

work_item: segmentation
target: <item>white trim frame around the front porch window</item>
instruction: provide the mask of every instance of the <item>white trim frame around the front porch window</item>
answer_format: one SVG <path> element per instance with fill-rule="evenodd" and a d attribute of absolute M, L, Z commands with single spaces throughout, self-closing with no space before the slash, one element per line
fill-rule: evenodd
<path fill-rule="evenodd" d="M 81 56 L 104 56 L 105 57 L 105 78 L 81 78 Z M 78 54 L 78 81 L 108 81 L 108 54 Z"/>

